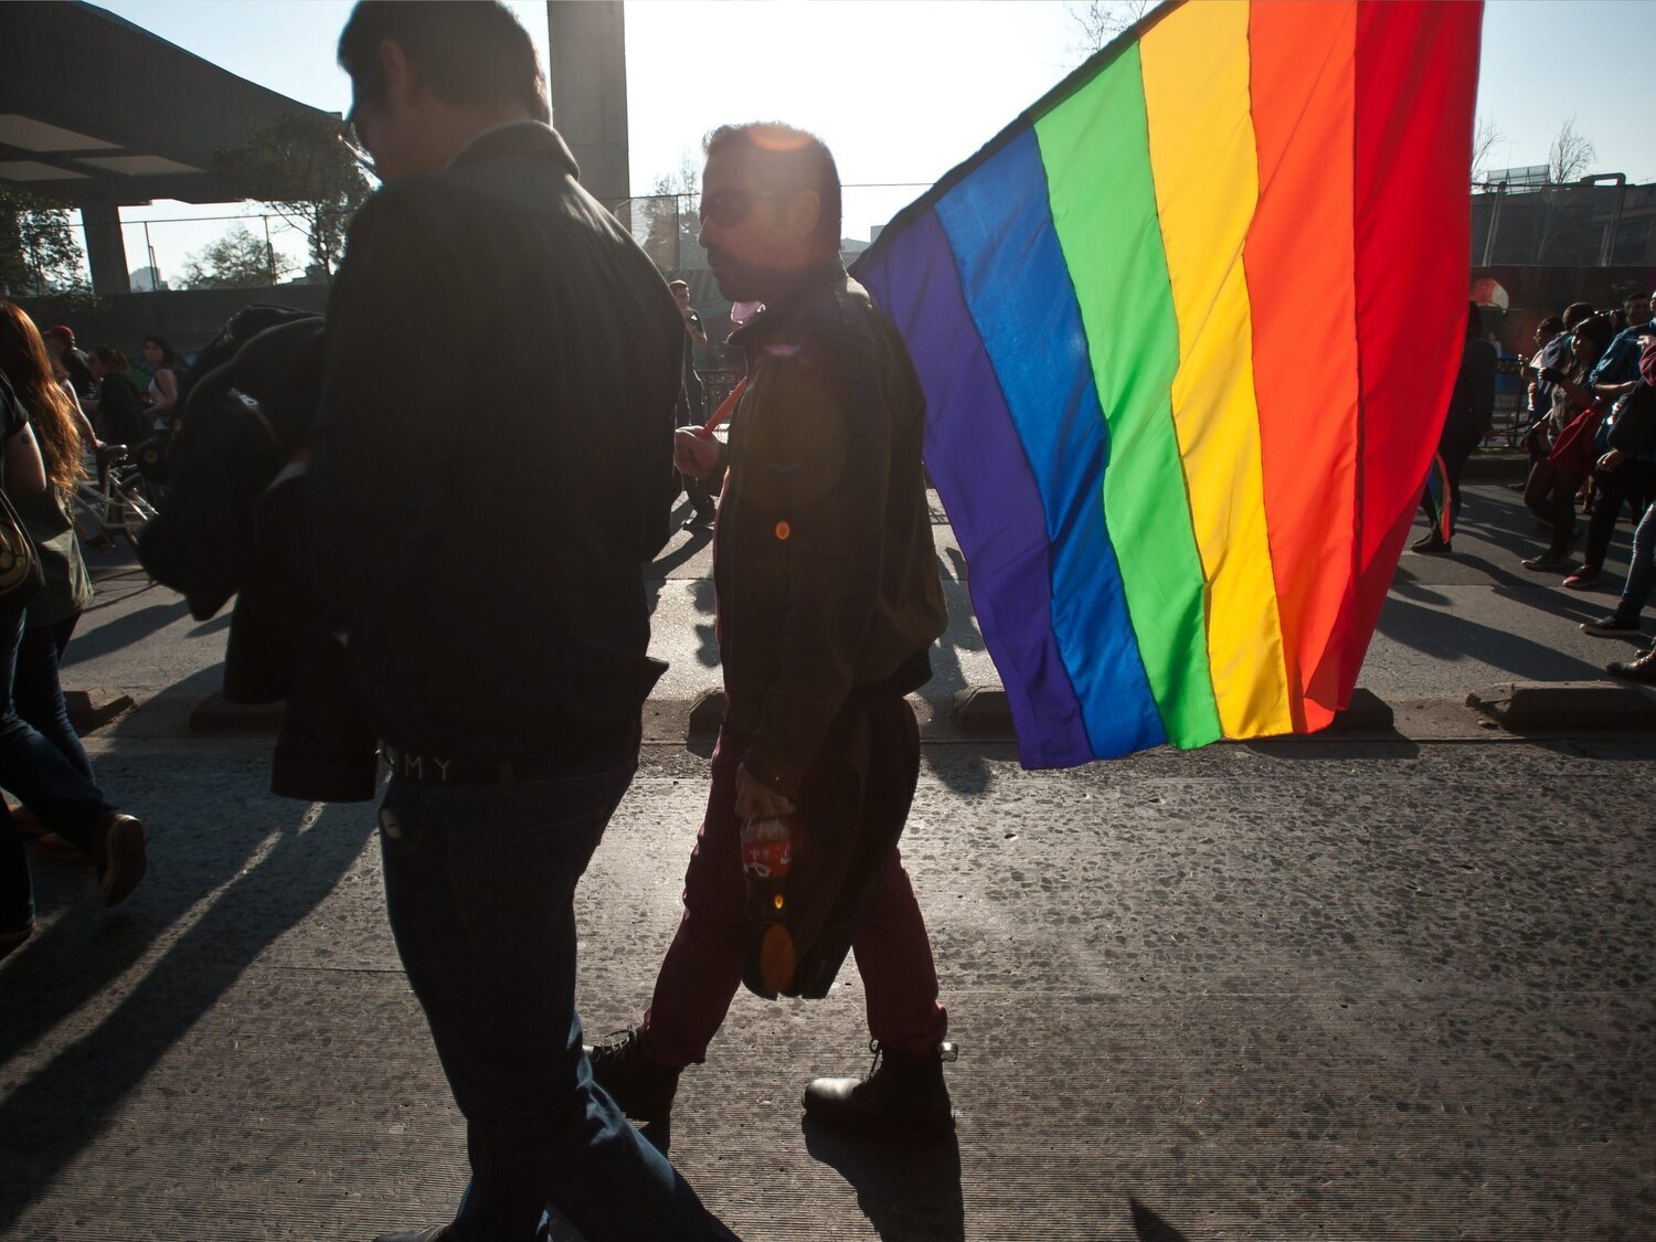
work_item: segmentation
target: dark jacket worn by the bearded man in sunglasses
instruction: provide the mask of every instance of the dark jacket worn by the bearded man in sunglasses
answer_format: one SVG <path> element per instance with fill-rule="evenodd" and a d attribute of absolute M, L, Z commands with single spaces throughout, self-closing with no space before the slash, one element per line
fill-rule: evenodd
<path fill-rule="evenodd" d="M 896 326 L 838 258 L 730 336 L 714 578 L 727 725 L 793 797 L 853 689 L 931 676 L 947 614 L 921 469 L 926 397 Z"/>

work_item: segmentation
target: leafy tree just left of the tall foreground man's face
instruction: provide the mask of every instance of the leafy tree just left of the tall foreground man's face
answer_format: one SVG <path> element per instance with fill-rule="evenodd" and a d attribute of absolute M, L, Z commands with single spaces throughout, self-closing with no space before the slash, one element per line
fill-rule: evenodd
<path fill-rule="evenodd" d="M 286 113 L 247 128 L 242 146 L 214 154 L 214 171 L 305 233 L 325 280 L 344 255 L 351 217 L 373 184 L 328 119 Z"/>

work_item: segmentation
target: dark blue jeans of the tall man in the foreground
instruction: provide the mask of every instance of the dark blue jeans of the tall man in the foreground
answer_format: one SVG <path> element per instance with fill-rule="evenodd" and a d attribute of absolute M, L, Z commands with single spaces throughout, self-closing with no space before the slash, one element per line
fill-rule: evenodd
<path fill-rule="evenodd" d="M 386 906 L 467 1123 L 462 1239 L 528 1242 L 555 1206 L 588 1242 L 734 1239 L 591 1075 L 575 886 L 633 768 L 507 787 L 392 777 Z"/>

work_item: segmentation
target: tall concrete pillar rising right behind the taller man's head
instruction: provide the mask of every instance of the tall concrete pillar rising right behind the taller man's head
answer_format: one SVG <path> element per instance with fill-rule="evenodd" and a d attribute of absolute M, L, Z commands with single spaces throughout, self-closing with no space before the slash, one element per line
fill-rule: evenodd
<path fill-rule="evenodd" d="M 631 195 L 626 146 L 626 23 L 621 0 L 546 0 L 551 124 L 606 207 Z"/>

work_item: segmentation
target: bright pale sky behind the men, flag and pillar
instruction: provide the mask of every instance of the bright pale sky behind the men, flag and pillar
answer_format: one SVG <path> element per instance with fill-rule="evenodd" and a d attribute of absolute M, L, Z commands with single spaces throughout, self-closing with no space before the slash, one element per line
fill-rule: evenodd
<path fill-rule="evenodd" d="M 1197 0 L 1201 2 L 1201 0 Z M 315 108 L 344 113 L 335 65 L 348 0 L 101 0 L 232 73 Z M 512 0 L 545 61 L 546 10 Z M 846 235 L 866 238 L 972 154 L 1081 58 L 1061 0 L 628 0 L 633 192 L 696 161 L 717 124 L 783 119 L 821 134 L 846 182 Z M 1492 167 L 1545 164 L 1575 118 L 1596 147 L 1593 171 L 1656 181 L 1656 3 L 1489 0 L 1479 114 L 1505 134 Z M 853 189 L 917 182 L 903 189 Z M 128 258 L 144 263 L 141 220 L 225 215 L 176 202 L 124 209 Z M 154 224 L 162 273 L 229 222 Z M 291 240 L 291 238 L 290 238 Z M 282 248 L 298 255 L 296 242 Z"/>

